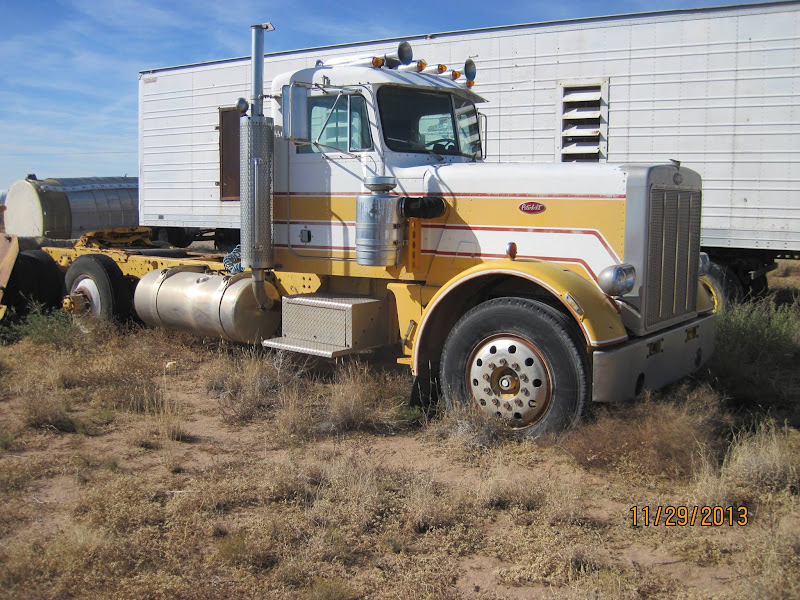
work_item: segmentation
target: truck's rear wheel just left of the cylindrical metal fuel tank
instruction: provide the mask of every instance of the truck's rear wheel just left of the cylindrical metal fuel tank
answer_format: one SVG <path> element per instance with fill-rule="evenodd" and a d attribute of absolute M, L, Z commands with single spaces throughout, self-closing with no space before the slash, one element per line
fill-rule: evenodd
<path fill-rule="evenodd" d="M 81 296 L 86 312 L 101 319 L 130 314 L 128 285 L 117 263 L 103 254 L 85 254 L 72 263 L 65 278 L 70 296 Z"/>

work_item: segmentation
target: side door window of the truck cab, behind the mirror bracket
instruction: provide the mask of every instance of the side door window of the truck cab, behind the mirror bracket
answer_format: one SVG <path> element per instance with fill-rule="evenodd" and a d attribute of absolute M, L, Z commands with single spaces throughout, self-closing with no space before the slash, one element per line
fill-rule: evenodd
<path fill-rule="evenodd" d="M 327 95 L 308 99 L 311 144 L 297 147 L 299 154 L 358 152 L 372 148 L 369 116 L 363 96 Z M 319 145 L 313 142 L 319 138 Z"/>

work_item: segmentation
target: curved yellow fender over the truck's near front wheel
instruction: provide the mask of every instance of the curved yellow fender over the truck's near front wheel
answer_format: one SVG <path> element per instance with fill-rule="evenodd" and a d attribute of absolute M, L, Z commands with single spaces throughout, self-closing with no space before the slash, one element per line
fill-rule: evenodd
<path fill-rule="evenodd" d="M 420 348 L 425 344 L 437 309 L 447 305 L 451 294 L 467 293 L 465 284 L 494 275 L 519 278 L 523 286 L 532 283 L 547 290 L 569 311 L 586 338 L 587 346 L 597 349 L 624 342 L 628 334 L 614 301 L 597 286 L 574 271 L 541 260 L 496 260 L 476 265 L 445 283 L 425 307 L 414 344 L 414 373 L 418 372 Z M 533 286 L 530 286 L 532 288 Z M 520 291 L 524 291 L 524 287 Z"/>

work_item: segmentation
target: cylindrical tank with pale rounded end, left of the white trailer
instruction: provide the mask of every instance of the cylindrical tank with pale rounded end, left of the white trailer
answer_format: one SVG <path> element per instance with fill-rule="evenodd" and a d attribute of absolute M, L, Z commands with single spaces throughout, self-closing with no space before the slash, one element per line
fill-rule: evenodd
<path fill-rule="evenodd" d="M 20 179 L 5 204 L 8 233 L 76 239 L 87 231 L 138 225 L 139 178 Z"/>

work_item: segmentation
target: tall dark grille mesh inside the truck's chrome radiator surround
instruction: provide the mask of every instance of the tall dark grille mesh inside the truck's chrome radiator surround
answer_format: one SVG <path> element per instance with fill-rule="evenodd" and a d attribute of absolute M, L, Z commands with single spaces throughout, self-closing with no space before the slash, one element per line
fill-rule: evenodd
<path fill-rule="evenodd" d="M 701 196 L 699 190 L 654 187 L 650 191 L 647 329 L 697 309 Z"/>

